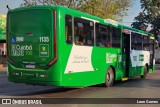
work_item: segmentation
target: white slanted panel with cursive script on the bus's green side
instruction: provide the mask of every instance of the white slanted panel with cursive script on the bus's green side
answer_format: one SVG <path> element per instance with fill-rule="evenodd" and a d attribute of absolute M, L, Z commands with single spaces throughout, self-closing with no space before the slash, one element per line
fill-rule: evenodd
<path fill-rule="evenodd" d="M 93 47 L 73 45 L 64 73 L 94 71 L 92 50 Z"/>

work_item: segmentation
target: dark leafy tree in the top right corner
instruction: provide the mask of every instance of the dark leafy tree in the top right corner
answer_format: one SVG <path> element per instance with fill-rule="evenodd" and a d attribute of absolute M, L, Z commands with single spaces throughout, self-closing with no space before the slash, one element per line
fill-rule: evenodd
<path fill-rule="evenodd" d="M 143 11 L 135 17 L 132 27 L 146 30 L 148 25 L 151 25 L 151 32 L 157 35 L 160 31 L 160 0 L 141 0 L 140 2 Z"/>

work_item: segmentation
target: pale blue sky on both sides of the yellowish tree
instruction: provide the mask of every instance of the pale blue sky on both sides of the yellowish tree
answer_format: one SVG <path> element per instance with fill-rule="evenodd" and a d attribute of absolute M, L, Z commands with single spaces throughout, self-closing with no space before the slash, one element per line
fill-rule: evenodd
<path fill-rule="evenodd" d="M 20 7 L 21 3 L 23 3 L 23 0 L 0 0 L 0 14 L 7 14 L 7 5 L 9 5 L 11 9 L 14 9 Z M 123 18 L 122 24 L 127 26 L 131 25 L 131 23 L 134 21 L 134 17 L 136 17 L 138 13 L 141 11 L 140 5 L 140 0 L 133 1 L 132 7 L 129 8 L 127 12 L 128 16 L 125 16 Z"/>

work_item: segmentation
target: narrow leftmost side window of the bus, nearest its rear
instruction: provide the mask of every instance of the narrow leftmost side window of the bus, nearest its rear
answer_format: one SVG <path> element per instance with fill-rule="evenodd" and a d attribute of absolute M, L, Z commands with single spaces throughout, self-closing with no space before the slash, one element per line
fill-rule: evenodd
<path fill-rule="evenodd" d="M 72 44 L 72 17 L 70 15 L 65 17 L 65 28 L 66 42 Z"/>

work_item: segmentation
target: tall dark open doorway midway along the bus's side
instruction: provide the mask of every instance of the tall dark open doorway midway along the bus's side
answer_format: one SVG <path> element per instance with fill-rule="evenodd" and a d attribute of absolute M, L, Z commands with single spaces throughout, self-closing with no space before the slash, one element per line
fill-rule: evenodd
<path fill-rule="evenodd" d="M 122 52 L 123 52 L 123 77 L 129 77 L 130 72 L 130 31 L 123 30 L 122 33 Z"/>

